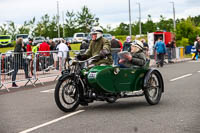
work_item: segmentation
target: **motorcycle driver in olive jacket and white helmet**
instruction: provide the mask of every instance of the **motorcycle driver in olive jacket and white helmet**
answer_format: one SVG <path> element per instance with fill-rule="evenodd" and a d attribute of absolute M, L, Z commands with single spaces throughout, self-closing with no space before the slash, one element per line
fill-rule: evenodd
<path fill-rule="evenodd" d="M 78 55 L 77 59 L 85 60 L 90 57 L 99 55 L 95 61 L 92 61 L 91 66 L 96 65 L 112 65 L 113 60 L 111 56 L 111 44 L 103 38 L 103 30 L 101 27 L 94 27 L 91 32 L 92 41 L 90 42 L 89 48 L 85 54 Z"/>

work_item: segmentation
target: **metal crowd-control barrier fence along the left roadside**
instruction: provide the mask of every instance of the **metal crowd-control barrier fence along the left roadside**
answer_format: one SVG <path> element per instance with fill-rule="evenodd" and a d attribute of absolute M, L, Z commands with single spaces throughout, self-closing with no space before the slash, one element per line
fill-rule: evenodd
<path fill-rule="evenodd" d="M 25 81 L 25 86 L 31 83 L 41 82 L 42 78 L 55 77 L 66 68 L 66 59 L 71 52 L 78 51 L 40 51 L 37 53 L 8 52 L 0 54 L 0 90 L 9 87 L 6 85 Z M 71 54 L 70 54 L 71 53 Z"/>

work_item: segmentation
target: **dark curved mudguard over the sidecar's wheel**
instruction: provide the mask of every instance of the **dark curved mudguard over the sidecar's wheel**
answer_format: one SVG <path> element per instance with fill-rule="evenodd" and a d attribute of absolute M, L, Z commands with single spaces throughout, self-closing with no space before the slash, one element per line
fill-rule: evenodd
<path fill-rule="evenodd" d="M 146 73 L 145 78 L 144 78 L 143 88 L 145 89 L 145 88 L 147 87 L 147 81 L 148 81 L 148 79 L 149 79 L 149 77 L 150 77 L 150 75 L 151 75 L 151 73 L 152 73 L 153 71 L 158 72 L 158 74 L 159 74 L 159 76 L 160 76 L 160 78 L 161 78 L 160 80 L 161 80 L 161 82 L 162 82 L 162 92 L 164 92 L 164 82 L 163 82 L 162 75 L 161 75 L 161 73 L 160 73 L 157 69 L 155 69 L 155 68 L 149 69 L 148 72 Z"/>

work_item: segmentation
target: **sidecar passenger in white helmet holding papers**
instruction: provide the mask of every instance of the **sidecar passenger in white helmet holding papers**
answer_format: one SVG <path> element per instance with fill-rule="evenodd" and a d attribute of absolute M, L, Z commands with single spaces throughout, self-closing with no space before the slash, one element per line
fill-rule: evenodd
<path fill-rule="evenodd" d="M 143 43 L 139 40 L 135 40 L 131 43 L 131 51 L 129 54 L 124 54 L 125 59 L 119 60 L 120 67 L 131 67 L 132 65 L 144 66 L 146 63 L 146 56 L 144 54 Z"/>

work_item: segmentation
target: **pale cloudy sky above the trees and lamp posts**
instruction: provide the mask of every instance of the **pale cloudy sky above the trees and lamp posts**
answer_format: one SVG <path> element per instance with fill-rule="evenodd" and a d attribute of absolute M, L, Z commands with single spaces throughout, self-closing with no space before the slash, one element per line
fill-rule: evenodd
<path fill-rule="evenodd" d="M 36 17 L 39 21 L 46 13 L 54 16 L 57 13 L 57 1 L 59 2 L 60 15 L 62 12 L 80 12 L 86 5 L 90 12 L 99 18 L 100 25 L 115 27 L 121 22 L 129 23 L 129 0 L 0 0 L 0 25 L 13 21 L 21 25 Z M 138 21 L 141 5 L 142 21 L 147 21 L 148 14 L 154 22 L 159 21 L 160 15 L 166 19 L 173 18 L 171 0 L 130 0 L 132 22 Z M 176 18 L 200 15 L 200 0 L 174 0 Z"/>

